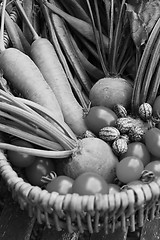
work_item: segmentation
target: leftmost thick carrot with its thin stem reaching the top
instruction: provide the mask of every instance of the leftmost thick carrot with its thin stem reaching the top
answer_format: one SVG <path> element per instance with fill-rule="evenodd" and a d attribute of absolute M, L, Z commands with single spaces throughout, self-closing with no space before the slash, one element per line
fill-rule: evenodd
<path fill-rule="evenodd" d="M 57 120 L 64 121 L 53 91 L 31 58 L 18 49 L 5 49 L 3 42 L 5 5 L 6 0 L 3 1 L 0 34 L 0 69 L 3 71 L 4 77 L 25 98 L 54 111 Z"/>

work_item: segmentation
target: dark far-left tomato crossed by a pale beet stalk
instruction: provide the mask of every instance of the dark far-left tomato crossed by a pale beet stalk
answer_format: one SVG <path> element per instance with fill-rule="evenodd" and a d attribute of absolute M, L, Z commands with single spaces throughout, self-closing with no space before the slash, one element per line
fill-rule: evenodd
<path fill-rule="evenodd" d="M 25 140 L 22 140 L 22 139 L 18 139 L 18 138 L 13 139 L 11 143 L 16 146 L 33 148 L 33 145 L 31 143 L 29 143 Z M 33 156 L 33 155 L 29 155 L 29 154 L 21 153 L 21 152 L 15 152 L 15 151 L 11 151 L 11 150 L 7 151 L 7 157 L 8 157 L 8 160 L 14 166 L 19 167 L 19 168 L 28 167 L 35 160 L 35 156 Z"/>

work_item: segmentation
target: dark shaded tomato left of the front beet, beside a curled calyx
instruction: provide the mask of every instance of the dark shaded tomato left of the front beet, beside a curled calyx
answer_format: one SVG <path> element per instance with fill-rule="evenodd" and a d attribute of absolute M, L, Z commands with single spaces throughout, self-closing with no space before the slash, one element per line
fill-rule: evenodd
<path fill-rule="evenodd" d="M 48 175 L 51 171 L 55 171 L 53 160 L 37 157 L 29 167 L 25 168 L 25 175 L 32 185 L 42 186 L 42 176 Z"/>

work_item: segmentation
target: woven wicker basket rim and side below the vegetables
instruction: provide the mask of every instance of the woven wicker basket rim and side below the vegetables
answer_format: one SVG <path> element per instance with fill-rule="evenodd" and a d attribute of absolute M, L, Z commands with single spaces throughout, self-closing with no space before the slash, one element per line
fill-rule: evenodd
<path fill-rule="evenodd" d="M 79 196 L 49 193 L 25 182 L 13 170 L 5 154 L 0 152 L 0 174 L 6 181 L 13 199 L 29 216 L 56 230 L 84 230 L 90 233 L 104 229 L 106 234 L 121 227 L 135 231 L 145 220 L 154 219 L 160 211 L 160 178 L 141 187 L 130 187 L 116 194 Z"/>

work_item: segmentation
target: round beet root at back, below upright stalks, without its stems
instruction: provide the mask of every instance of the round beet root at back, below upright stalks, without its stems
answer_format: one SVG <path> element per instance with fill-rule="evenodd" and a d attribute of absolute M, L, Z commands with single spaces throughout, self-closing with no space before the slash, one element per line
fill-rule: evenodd
<path fill-rule="evenodd" d="M 120 77 L 106 77 L 98 80 L 90 90 L 89 99 L 92 106 L 113 108 L 121 104 L 128 108 L 132 97 L 132 82 Z"/>

